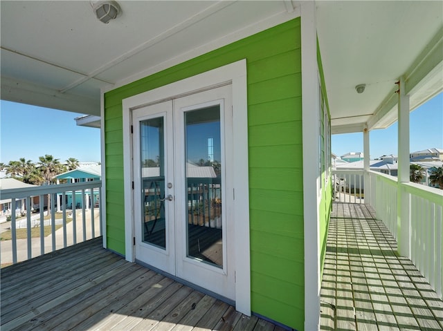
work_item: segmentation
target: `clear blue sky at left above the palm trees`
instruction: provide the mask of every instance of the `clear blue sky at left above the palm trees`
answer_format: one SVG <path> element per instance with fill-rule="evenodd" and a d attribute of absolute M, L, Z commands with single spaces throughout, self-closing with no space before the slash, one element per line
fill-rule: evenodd
<path fill-rule="evenodd" d="M 0 162 L 53 155 L 64 162 L 100 162 L 100 129 L 77 126 L 82 114 L 17 104 L 0 103 Z"/>

